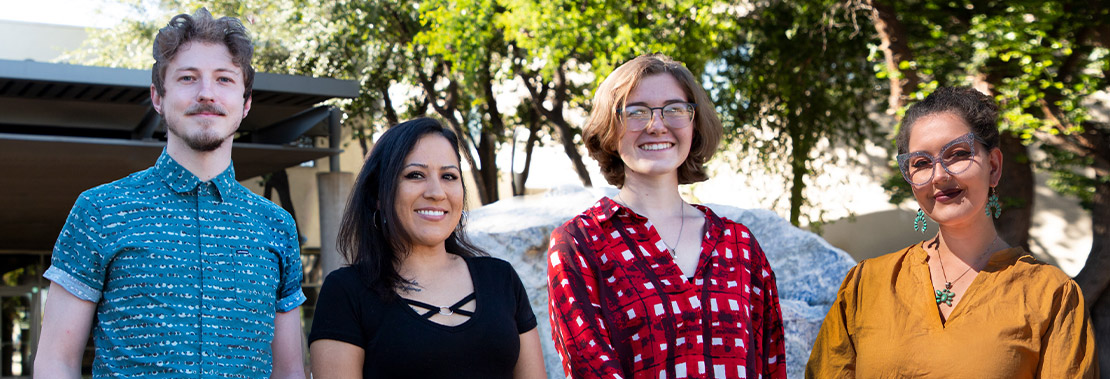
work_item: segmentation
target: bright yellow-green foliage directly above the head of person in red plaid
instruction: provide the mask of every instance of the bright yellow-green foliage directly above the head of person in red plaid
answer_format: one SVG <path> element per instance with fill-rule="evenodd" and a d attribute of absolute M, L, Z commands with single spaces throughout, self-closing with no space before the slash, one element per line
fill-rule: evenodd
<path fill-rule="evenodd" d="M 497 18 L 505 40 L 526 51 L 523 66 L 542 81 L 559 69 L 586 73 L 588 89 L 574 91 L 575 103 L 589 101 L 620 63 L 644 53 L 665 53 L 695 73 L 715 57 L 724 30 L 734 20 L 709 0 L 658 2 L 504 0 Z"/>

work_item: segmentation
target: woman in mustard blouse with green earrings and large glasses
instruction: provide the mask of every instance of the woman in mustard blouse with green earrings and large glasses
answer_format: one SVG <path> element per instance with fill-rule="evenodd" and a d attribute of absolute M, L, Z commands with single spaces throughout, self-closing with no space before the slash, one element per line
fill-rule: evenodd
<path fill-rule="evenodd" d="M 910 107 L 898 167 L 920 206 L 914 227 L 937 233 L 848 272 L 806 378 L 1097 377 L 1079 287 L 995 230 L 998 141 L 998 106 L 973 89 Z"/>

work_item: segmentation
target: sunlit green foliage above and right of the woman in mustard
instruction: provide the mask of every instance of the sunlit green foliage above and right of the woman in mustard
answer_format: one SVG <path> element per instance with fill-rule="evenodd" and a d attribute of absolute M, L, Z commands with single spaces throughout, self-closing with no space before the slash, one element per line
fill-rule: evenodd
<path fill-rule="evenodd" d="M 915 54 L 901 69 L 916 69 L 925 83 L 910 97 L 922 99 L 937 86 L 968 86 L 976 78 L 991 84 L 1001 129 L 1026 143 L 1047 142 L 1041 144 L 1047 158 L 1037 167 L 1052 173 L 1050 187 L 1089 206 L 1098 179 L 1077 168 L 1096 161 L 1073 152 L 1083 143 L 1071 136 L 1084 128 L 1110 130 L 1088 122 L 1082 104 L 1110 83 L 1108 47 L 1096 42 L 1097 30 L 1110 23 L 1107 7 L 1070 0 L 891 3 Z M 877 77 L 890 74 L 898 73 Z"/>

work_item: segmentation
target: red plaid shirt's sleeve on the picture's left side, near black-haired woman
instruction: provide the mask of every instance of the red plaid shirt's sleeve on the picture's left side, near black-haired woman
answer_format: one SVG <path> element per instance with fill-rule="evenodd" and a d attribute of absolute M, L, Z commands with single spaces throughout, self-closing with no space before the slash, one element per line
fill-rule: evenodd
<path fill-rule="evenodd" d="M 568 378 L 623 378 L 598 305 L 597 276 L 572 220 L 552 232 L 547 262 L 552 338 Z"/>

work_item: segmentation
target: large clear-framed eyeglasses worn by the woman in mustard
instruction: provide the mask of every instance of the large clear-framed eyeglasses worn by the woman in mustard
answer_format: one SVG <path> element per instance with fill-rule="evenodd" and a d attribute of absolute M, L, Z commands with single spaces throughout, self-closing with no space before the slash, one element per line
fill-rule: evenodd
<path fill-rule="evenodd" d="M 948 174 L 960 174 L 971 167 L 975 161 L 975 142 L 982 140 L 975 133 L 967 133 L 953 139 L 940 149 L 940 159 L 925 151 L 907 152 L 898 154 L 898 168 L 902 171 L 902 178 L 914 186 L 925 186 L 932 180 L 937 170 L 937 162 L 948 171 Z"/>

